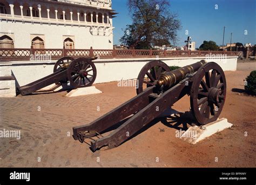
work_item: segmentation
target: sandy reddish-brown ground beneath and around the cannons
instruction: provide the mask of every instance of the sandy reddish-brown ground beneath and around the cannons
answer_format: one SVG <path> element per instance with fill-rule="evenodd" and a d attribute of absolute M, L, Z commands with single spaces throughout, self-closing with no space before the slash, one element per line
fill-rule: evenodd
<path fill-rule="evenodd" d="M 238 62 L 236 72 L 225 72 L 227 98 L 220 117 L 234 126 L 196 145 L 176 137 L 187 120 L 172 124 L 169 118 L 111 150 L 93 153 L 89 145 L 73 140 L 73 126 L 90 123 L 136 95 L 134 87 L 117 87 L 117 82 L 96 84 L 104 92 L 96 95 L 67 98 L 62 91 L 0 98 L 0 130 L 21 130 L 20 140 L 0 139 L 0 166 L 255 167 L 256 97 L 241 90 L 253 69 L 256 62 Z M 173 108 L 188 111 L 189 97 Z"/>

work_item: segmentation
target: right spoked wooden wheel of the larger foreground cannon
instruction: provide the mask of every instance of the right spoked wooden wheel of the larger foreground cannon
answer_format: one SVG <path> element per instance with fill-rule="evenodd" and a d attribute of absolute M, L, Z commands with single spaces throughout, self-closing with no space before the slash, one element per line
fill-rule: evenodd
<path fill-rule="evenodd" d="M 217 120 L 226 97 L 226 79 L 221 67 L 209 62 L 199 68 L 191 87 L 190 103 L 198 123 Z"/>

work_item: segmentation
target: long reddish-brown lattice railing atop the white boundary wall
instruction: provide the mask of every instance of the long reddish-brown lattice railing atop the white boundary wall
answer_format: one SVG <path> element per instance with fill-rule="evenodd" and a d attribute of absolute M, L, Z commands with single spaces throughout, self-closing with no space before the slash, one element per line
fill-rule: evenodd
<path fill-rule="evenodd" d="M 225 58 L 226 56 L 238 56 L 239 52 L 231 51 L 166 51 L 152 49 L 34 49 L 34 48 L 0 48 L 0 61 L 30 60 L 47 56 L 56 60 L 63 56 L 73 58 L 91 57 L 97 55 L 99 59 L 113 58 L 174 58 L 174 57 L 198 57 Z"/>

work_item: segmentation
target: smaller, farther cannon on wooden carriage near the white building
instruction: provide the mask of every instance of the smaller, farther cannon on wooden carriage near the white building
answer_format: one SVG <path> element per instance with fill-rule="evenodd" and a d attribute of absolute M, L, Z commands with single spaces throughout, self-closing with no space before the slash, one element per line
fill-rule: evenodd
<path fill-rule="evenodd" d="M 91 86 L 97 76 L 95 64 L 92 62 L 95 59 L 97 56 L 78 59 L 63 57 L 55 63 L 52 74 L 18 87 L 17 94 L 28 95 L 53 83 L 56 84 L 55 88 L 63 83 L 68 83 L 73 89 Z"/>

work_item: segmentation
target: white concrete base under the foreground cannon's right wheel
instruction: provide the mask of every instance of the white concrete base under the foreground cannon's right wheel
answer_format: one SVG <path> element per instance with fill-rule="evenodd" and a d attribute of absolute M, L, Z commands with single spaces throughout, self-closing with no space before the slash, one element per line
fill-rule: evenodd
<path fill-rule="evenodd" d="M 226 118 L 215 120 L 204 126 L 191 126 L 182 135 L 181 139 L 191 144 L 196 144 L 199 141 L 212 136 L 214 133 L 230 128 L 233 124 L 228 123 Z"/>

